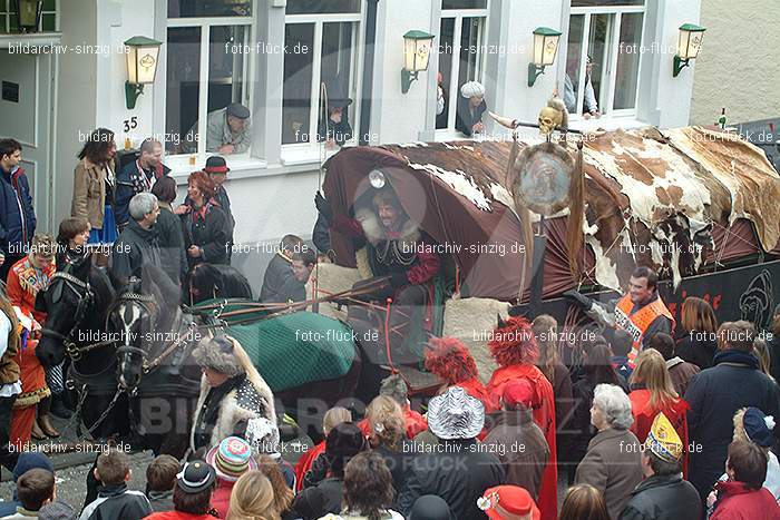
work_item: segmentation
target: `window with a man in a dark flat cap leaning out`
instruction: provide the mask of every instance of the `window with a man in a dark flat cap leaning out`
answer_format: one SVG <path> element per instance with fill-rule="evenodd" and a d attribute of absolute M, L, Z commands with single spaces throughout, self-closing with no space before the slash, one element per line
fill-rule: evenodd
<path fill-rule="evenodd" d="M 248 153 L 252 119 L 225 115 L 238 102 L 251 107 L 251 2 L 168 3 L 165 148 L 168 154 Z M 203 14 L 204 18 L 199 18 Z M 211 129 L 211 131 L 208 130 Z M 199 136 L 207 138 L 199 138 Z M 227 146 L 227 148 L 224 148 Z"/>

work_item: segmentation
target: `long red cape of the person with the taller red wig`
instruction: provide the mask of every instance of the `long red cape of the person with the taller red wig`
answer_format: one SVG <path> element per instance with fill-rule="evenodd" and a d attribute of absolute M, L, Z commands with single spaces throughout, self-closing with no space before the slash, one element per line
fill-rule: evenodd
<path fill-rule="evenodd" d="M 555 395 L 553 385 L 545 374 L 535 365 L 513 365 L 496 369 L 487 385 L 490 411 L 499 410 L 504 385 L 516 379 L 526 379 L 536 389 L 534 405 L 534 422 L 542 429 L 549 445 L 549 461 L 542 477 L 538 506 L 542 520 L 558 518 L 558 470 L 557 451 L 555 445 Z"/>

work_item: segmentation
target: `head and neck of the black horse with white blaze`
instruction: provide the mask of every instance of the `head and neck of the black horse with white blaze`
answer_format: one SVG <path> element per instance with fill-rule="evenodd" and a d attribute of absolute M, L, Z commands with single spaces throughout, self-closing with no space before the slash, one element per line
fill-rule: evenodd
<path fill-rule="evenodd" d="M 178 300 L 168 275 L 147 265 L 134 273 L 111 306 L 107 327 L 117 337 L 117 382 L 128 394 L 138 390 L 169 340 L 178 340 Z"/>

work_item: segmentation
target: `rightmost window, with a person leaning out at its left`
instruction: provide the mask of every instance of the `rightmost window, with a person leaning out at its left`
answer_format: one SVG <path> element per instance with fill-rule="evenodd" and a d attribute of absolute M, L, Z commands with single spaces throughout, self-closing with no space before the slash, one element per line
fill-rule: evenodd
<path fill-rule="evenodd" d="M 643 22 L 643 0 L 572 0 L 563 81 L 571 114 L 635 112 Z"/>

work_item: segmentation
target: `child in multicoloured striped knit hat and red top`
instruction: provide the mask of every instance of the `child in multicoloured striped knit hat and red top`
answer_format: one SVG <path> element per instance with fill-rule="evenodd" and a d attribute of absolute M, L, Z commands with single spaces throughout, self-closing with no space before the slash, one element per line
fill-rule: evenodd
<path fill-rule="evenodd" d="M 217 510 L 220 518 L 226 518 L 233 485 L 242 474 L 256 470 L 257 461 L 248 442 L 237 436 L 228 436 L 208 450 L 206 463 L 216 471 L 212 507 Z"/>

